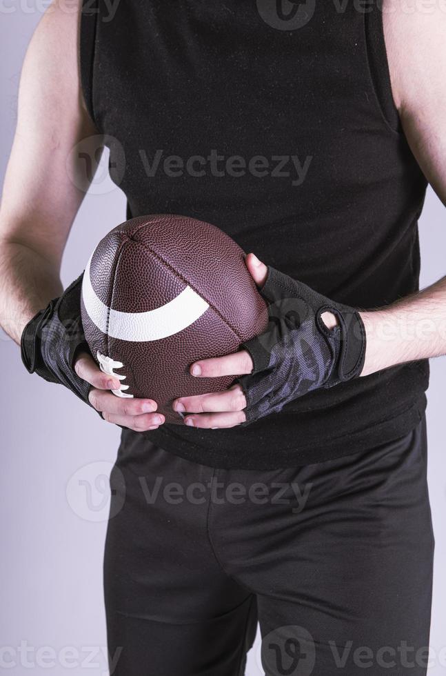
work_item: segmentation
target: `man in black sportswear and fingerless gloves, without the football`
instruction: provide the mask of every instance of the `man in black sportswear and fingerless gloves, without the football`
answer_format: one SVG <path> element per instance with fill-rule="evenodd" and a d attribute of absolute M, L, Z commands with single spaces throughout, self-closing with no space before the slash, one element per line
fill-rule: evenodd
<path fill-rule="evenodd" d="M 374 674 L 426 673 L 425 360 L 446 353 L 446 281 L 418 292 L 416 220 L 427 181 L 446 199 L 446 14 L 274 5 L 85 3 L 80 21 L 55 4 L 23 68 L 1 317 L 28 370 L 123 427 L 105 550 L 119 675 L 241 674 L 257 618 L 267 673 L 356 674 L 365 658 Z M 119 381 L 85 352 L 79 281 L 61 288 L 82 199 L 71 150 L 98 133 L 129 216 L 229 232 L 279 327 L 191 365 L 235 382 L 179 392 L 184 426 L 112 395 Z M 163 154 L 176 159 L 157 170 Z M 148 505 L 156 477 L 198 497 Z"/>

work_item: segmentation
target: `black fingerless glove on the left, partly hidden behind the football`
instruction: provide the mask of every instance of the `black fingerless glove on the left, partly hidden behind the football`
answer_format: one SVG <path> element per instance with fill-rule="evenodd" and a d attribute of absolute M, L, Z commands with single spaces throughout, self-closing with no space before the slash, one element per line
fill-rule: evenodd
<path fill-rule="evenodd" d="M 21 358 L 28 372 L 65 385 L 88 404 L 91 385 L 74 371 L 79 351 L 90 351 L 81 321 L 82 277 L 28 322 L 21 335 Z"/>

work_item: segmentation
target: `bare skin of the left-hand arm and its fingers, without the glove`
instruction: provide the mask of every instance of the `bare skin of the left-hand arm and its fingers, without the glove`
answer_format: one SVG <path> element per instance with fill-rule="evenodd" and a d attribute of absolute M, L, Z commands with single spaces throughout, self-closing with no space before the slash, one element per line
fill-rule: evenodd
<path fill-rule="evenodd" d="M 61 295 L 63 249 L 88 188 L 83 159 L 72 149 L 82 141 L 88 152 L 90 140 L 94 159 L 97 146 L 80 86 L 80 5 L 80 0 L 77 7 L 54 1 L 32 37 L 21 75 L 0 208 L 0 324 L 17 343 L 36 312 Z M 137 430 L 163 422 L 148 413 L 156 409 L 154 401 L 118 399 L 106 391 L 120 383 L 101 372 L 90 355 L 79 355 L 75 368 L 94 386 L 90 402 L 108 421 Z"/>

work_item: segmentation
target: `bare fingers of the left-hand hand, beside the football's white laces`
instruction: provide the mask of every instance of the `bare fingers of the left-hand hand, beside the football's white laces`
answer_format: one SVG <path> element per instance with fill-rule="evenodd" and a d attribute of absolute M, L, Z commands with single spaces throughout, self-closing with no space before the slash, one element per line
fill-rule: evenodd
<path fill-rule="evenodd" d="M 107 422 L 128 427 L 135 432 L 156 430 L 163 424 L 165 418 L 161 413 L 156 413 L 157 404 L 153 399 L 121 398 L 110 392 L 119 390 L 121 383 L 103 373 L 88 352 L 79 353 L 74 370 L 92 385 L 88 400 Z"/>

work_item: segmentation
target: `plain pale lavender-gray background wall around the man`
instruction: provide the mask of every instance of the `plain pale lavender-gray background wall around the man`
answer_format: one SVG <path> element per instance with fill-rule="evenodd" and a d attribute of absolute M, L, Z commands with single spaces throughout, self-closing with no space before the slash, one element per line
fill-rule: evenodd
<path fill-rule="evenodd" d="M 15 126 L 21 63 L 41 9 L 26 0 L 10 0 L 2 8 L 3 181 Z M 99 171 L 96 182 L 93 192 L 101 194 L 85 198 L 68 241 L 62 268 L 65 286 L 81 273 L 105 232 L 125 220 L 121 191 L 104 172 Z M 445 211 L 432 190 L 420 221 L 420 239 L 421 281 L 426 286 L 446 272 Z M 0 660 L 3 657 L 17 663 L 8 669 L 3 665 L 11 674 L 28 674 L 30 670 L 39 674 L 105 674 L 101 566 L 108 513 L 106 477 L 119 443 L 119 429 L 103 423 L 61 386 L 29 376 L 21 366 L 17 346 L 4 334 L 0 334 L 0 360 Z M 446 498 L 446 360 L 433 360 L 431 368 L 427 418 L 436 574 L 429 674 L 440 676 L 446 673 L 446 577 L 442 575 L 446 533 L 441 528 Z M 57 666 L 51 666 L 54 662 Z M 259 665 L 257 642 L 247 674 L 263 673 Z"/>

